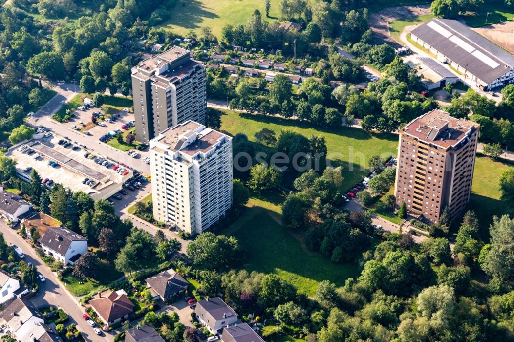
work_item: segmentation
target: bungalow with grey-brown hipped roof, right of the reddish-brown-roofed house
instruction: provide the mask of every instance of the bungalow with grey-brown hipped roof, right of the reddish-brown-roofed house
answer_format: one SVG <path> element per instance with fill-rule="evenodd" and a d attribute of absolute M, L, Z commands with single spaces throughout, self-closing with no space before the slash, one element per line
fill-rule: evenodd
<path fill-rule="evenodd" d="M 189 282 L 174 270 L 167 270 L 144 280 L 152 289 L 154 299 L 160 298 L 163 301 L 186 291 L 189 286 Z"/>

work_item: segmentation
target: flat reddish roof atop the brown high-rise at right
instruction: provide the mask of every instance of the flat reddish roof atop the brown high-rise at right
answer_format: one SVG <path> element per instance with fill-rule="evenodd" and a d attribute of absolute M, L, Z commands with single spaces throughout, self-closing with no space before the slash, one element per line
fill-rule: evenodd
<path fill-rule="evenodd" d="M 403 132 L 426 143 L 448 149 L 466 139 L 479 125 L 466 119 L 451 117 L 440 109 L 432 109 L 412 120 Z"/>

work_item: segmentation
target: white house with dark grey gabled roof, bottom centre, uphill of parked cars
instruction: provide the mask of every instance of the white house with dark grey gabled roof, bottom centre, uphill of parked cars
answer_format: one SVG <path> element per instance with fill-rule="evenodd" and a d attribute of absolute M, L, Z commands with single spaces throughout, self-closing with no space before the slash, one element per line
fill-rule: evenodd
<path fill-rule="evenodd" d="M 213 334 L 237 321 L 237 313 L 219 297 L 198 301 L 194 313 L 201 324 Z"/>

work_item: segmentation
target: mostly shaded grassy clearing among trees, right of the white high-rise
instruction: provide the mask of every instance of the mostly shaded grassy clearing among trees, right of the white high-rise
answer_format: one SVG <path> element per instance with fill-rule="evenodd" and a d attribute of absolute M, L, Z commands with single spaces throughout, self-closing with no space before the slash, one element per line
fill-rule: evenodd
<path fill-rule="evenodd" d="M 332 263 L 307 251 L 302 237 L 293 235 L 280 224 L 280 204 L 284 196 L 271 201 L 252 197 L 243 215 L 222 233 L 233 235 L 244 251 L 243 268 L 274 273 L 294 284 L 298 291 L 313 296 L 318 282 L 328 279 L 342 286 L 348 277 L 358 274 L 353 263 Z"/>

